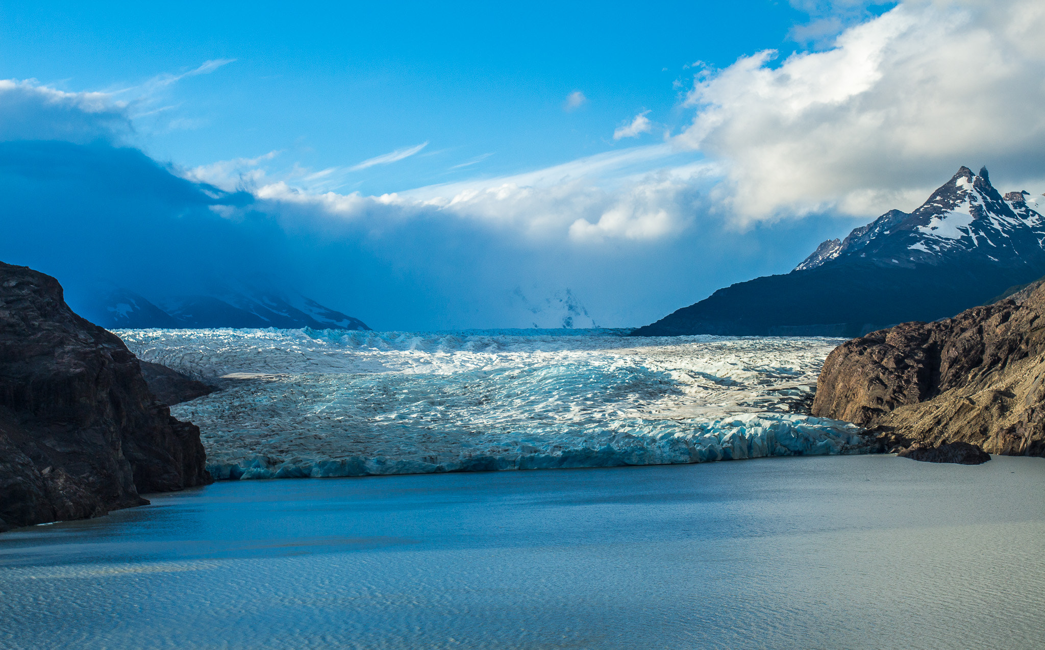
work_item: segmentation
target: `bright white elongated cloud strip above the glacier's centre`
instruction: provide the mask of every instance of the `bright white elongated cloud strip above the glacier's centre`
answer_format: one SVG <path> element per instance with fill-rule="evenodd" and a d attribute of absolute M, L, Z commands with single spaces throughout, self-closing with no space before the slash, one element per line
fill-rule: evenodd
<path fill-rule="evenodd" d="M 525 173 L 434 185 L 366 196 L 357 192 L 300 191 L 291 179 L 255 190 L 266 201 L 311 206 L 348 219 L 420 218 L 443 214 L 509 230 L 529 239 L 598 243 L 656 240 L 683 231 L 695 205 L 718 173 L 670 144 L 631 147 Z M 682 164 L 686 163 L 686 164 Z M 317 186 L 325 169 L 304 178 Z"/>

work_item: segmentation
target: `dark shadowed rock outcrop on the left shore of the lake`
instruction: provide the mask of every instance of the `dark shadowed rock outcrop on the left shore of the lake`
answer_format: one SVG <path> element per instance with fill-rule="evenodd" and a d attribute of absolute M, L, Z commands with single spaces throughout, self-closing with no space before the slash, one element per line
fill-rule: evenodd
<path fill-rule="evenodd" d="M 156 401 L 123 342 L 54 278 L 0 262 L 0 530 L 210 481 L 200 430 Z"/>

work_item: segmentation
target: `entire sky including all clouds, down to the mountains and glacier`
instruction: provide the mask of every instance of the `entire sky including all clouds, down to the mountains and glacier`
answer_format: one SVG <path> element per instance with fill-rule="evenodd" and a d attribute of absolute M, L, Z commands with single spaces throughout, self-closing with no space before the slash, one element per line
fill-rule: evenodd
<path fill-rule="evenodd" d="M 380 6 L 374 6 L 379 4 Z M 652 322 L 911 210 L 1045 191 L 1045 6 L 0 6 L 0 260 L 377 329 Z"/>

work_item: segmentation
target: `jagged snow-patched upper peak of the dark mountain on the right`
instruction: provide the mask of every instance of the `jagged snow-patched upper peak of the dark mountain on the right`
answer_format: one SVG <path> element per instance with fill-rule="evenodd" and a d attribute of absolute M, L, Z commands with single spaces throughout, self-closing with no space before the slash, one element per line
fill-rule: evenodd
<path fill-rule="evenodd" d="M 912 212 L 890 210 L 854 229 L 840 243 L 829 239 L 795 268 L 856 259 L 879 265 L 939 265 L 976 258 L 1005 265 L 1026 264 L 1045 253 L 1045 218 L 1027 205 L 1025 191 L 1002 196 L 986 167 L 962 166 Z M 1037 204 L 1036 204 L 1037 205 Z"/>

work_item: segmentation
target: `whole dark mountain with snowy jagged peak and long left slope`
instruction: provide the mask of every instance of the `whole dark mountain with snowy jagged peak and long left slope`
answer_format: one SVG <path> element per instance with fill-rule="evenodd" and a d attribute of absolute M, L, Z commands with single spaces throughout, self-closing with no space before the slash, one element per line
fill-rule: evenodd
<path fill-rule="evenodd" d="M 932 321 L 1045 275 L 1045 217 L 961 167 L 911 213 L 829 239 L 789 274 L 715 292 L 634 335 L 855 336 Z"/>

